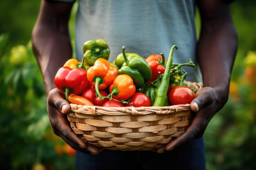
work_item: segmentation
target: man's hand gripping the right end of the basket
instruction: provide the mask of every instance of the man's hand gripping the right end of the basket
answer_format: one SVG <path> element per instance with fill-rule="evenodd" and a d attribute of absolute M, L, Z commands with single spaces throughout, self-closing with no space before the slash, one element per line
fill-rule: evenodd
<path fill-rule="evenodd" d="M 159 148 L 157 152 L 162 153 L 164 151 L 172 150 L 188 144 L 193 139 L 202 137 L 211 118 L 225 104 L 225 101 L 221 102 L 218 98 L 222 99 L 223 97 L 218 97 L 216 90 L 211 87 L 204 87 L 198 90 L 195 99 L 191 102 L 191 110 L 195 112 L 191 125 L 182 135 L 168 143 L 166 146 Z"/>

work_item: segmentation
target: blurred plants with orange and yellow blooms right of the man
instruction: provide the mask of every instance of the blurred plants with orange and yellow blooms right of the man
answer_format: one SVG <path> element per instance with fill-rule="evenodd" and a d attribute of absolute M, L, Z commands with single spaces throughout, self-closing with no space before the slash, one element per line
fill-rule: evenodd
<path fill-rule="evenodd" d="M 230 97 L 204 135 L 208 169 L 256 169 L 256 53 L 249 51 L 245 70 L 231 81 Z"/>

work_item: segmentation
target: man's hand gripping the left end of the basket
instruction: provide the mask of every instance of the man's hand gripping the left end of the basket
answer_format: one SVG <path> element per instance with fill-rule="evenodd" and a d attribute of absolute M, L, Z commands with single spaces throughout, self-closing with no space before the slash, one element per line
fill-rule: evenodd
<path fill-rule="evenodd" d="M 73 149 L 84 153 L 98 155 L 102 150 L 94 146 L 88 146 L 70 128 L 66 114 L 70 111 L 70 104 L 65 95 L 57 88 L 52 89 L 47 96 L 47 112 L 53 131 L 61 137 Z"/>

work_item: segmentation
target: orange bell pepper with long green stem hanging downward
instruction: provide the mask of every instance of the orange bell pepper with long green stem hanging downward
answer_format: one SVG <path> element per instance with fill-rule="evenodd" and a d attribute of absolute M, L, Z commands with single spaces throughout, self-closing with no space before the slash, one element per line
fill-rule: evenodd
<path fill-rule="evenodd" d="M 101 96 L 99 90 L 103 90 L 110 85 L 115 77 L 118 75 L 118 70 L 115 66 L 110 65 L 108 60 L 99 58 L 95 61 L 87 71 L 87 79 L 92 86 L 94 86 L 97 95 L 101 100 L 104 98 Z"/>

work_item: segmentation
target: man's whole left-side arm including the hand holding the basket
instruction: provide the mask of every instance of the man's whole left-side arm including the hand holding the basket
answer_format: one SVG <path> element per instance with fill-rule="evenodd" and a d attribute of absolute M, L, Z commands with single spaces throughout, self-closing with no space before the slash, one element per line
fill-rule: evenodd
<path fill-rule="evenodd" d="M 86 146 L 70 128 L 65 115 L 70 111 L 70 105 L 54 85 L 56 72 L 72 57 L 68 32 L 71 9 L 72 3 L 42 0 L 32 33 L 33 50 L 43 74 L 47 112 L 54 133 L 76 150 L 98 154 L 97 148 Z"/>

